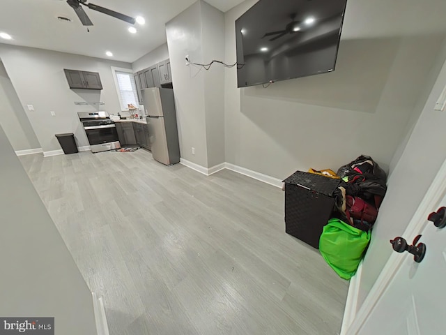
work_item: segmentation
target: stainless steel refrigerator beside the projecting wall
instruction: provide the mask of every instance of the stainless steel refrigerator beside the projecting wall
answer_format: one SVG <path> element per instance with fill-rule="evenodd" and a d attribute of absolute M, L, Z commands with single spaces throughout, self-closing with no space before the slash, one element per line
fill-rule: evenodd
<path fill-rule="evenodd" d="M 179 163 L 174 90 L 151 87 L 142 92 L 153 158 L 165 165 Z"/>

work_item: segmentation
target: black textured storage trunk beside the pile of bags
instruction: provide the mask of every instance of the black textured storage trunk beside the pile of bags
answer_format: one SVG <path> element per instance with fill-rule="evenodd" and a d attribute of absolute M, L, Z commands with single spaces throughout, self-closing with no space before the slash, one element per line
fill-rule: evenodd
<path fill-rule="evenodd" d="M 339 179 L 296 171 L 285 183 L 285 231 L 319 248 L 323 226 L 332 216 Z"/>

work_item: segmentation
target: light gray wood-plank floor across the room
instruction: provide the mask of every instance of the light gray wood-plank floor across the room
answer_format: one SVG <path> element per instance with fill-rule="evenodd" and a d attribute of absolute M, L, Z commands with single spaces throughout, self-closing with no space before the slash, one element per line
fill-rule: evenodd
<path fill-rule="evenodd" d="M 339 334 L 348 282 L 284 232 L 279 188 L 143 149 L 20 159 L 110 334 Z"/>

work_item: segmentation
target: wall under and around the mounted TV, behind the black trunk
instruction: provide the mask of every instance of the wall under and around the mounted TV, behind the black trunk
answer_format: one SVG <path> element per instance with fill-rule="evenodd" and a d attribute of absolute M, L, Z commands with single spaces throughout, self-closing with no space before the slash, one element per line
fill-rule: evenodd
<path fill-rule="evenodd" d="M 234 22 L 254 3 L 225 15 L 228 63 L 236 60 Z M 236 69 L 227 69 L 226 161 L 281 179 L 295 170 L 337 170 L 360 154 L 388 168 L 443 38 L 343 39 L 334 72 L 268 89 L 238 89 Z"/>

